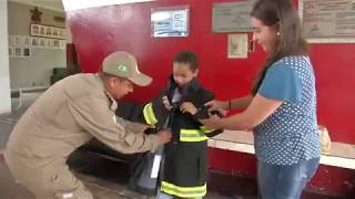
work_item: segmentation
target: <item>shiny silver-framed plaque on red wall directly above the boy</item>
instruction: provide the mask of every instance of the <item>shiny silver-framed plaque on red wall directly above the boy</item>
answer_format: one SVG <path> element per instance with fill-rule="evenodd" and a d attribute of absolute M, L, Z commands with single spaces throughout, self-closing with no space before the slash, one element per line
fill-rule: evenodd
<path fill-rule="evenodd" d="M 190 7 L 165 7 L 151 10 L 153 38 L 187 36 Z"/>

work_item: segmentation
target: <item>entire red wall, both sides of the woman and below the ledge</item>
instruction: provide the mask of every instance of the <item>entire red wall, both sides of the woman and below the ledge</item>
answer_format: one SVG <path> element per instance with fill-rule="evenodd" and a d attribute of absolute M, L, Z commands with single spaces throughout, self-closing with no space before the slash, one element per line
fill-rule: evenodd
<path fill-rule="evenodd" d="M 212 33 L 213 2 L 223 1 L 159 0 L 68 13 L 82 70 L 97 72 L 103 57 L 116 50 L 134 54 L 141 71 L 154 78 L 151 86 L 136 87 L 129 97 L 135 102 L 144 102 L 165 86 L 174 55 L 181 50 L 192 50 L 200 57 L 200 80 L 206 88 L 216 94 L 216 98 L 226 100 L 247 94 L 265 54 L 256 46 L 248 59 L 226 59 L 227 34 Z M 151 9 L 178 4 L 190 4 L 190 35 L 151 38 Z M 355 44 L 311 45 L 311 59 L 317 81 L 318 122 L 328 128 L 333 142 L 355 144 L 354 52 Z M 212 168 L 242 175 L 255 172 L 255 160 L 251 156 L 219 149 L 211 149 L 210 154 Z M 327 168 L 328 172 L 329 170 L 336 169 Z M 339 174 L 343 174 L 343 170 L 329 172 L 333 177 L 326 179 L 323 179 L 323 175 L 317 175 L 316 179 L 321 180 L 315 181 L 323 185 L 329 180 L 345 179 L 344 175 Z M 337 185 L 344 187 L 343 182 Z"/>

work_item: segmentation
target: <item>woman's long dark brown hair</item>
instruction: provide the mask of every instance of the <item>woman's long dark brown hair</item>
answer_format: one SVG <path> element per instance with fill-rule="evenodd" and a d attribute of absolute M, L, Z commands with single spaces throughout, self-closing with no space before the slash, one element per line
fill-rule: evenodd
<path fill-rule="evenodd" d="M 255 95 L 267 69 L 284 56 L 306 55 L 307 43 L 303 39 L 301 21 L 291 0 L 257 0 L 251 17 L 261 20 L 267 27 L 275 25 L 280 33 L 274 49 L 254 81 L 251 93 Z"/>

